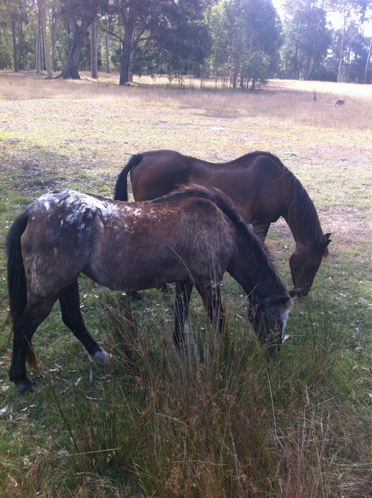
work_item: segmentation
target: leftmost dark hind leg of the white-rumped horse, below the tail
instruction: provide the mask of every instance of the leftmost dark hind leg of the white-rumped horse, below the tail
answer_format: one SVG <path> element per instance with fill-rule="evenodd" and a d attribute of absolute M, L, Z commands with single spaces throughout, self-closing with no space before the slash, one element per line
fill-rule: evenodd
<path fill-rule="evenodd" d="M 30 297 L 27 306 L 16 320 L 13 327 L 13 354 L 9 379 L 16 384 L 20 393 L 32 390 L 32 383 L 27 378 L 26 360 L 36 368 L 35 354 L 31 347 L 31 339 L 37 327 L 52 311 L 56 299 L 38 302 Z"/>

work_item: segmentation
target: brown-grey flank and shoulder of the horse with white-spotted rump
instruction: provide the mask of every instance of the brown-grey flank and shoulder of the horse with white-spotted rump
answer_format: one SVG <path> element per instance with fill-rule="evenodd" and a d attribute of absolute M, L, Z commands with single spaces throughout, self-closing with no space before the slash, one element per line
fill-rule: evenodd
<path fill-rule="evenodd" d="M 136 202 L 123 208 L 122 218 L 95 243 L 83 272 L 123 291 L 187 278 L 202 284 L 212 273 L 221 279 L 233 257 L 233 230 L 228 218 L 206 199 Z"/>

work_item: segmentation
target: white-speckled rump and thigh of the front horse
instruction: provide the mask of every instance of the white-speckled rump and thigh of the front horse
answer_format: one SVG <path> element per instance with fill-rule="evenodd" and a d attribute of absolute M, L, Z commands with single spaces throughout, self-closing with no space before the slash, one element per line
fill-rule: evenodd
<path fill-rule="evenodd" d="M 79 276 L 97 236 L 96 202 L 81 192 L 60 190 L 28 207 L 21 246 L 30 293 L 58 294 Z"/>

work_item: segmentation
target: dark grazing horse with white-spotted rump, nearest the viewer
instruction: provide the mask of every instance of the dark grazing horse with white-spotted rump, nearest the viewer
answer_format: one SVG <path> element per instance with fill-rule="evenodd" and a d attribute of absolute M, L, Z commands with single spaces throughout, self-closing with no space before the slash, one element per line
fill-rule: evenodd
<path fill-rule="evenodd" d="M 219 285 L 227 270 L 250 299 L 249 317 L 272 354 L 281 344 L 291 293 L 265 248 L 230 199 L 203 187 L 151 202 L 115 202 L 74 190 L 43 195 L 13 222 L 6 238 L 13 323 L 9 377 L 30 390 L 25 362 L 35 366 L 31 339 L 59 300 L 62 319 L 91 359 L 109 359 L 80 312 L 81 272 L 114 290 L 176 282 L 174 339 L 183 329 L 195 286 L 216 330 L 224 328 Z"/>

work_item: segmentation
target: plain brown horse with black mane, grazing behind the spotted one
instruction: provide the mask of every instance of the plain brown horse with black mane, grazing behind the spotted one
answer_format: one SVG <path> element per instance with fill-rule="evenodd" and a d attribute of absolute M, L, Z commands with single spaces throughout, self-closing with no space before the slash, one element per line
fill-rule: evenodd
<path fill-rule="evenodd" d="M 296 248 L 289 265 L 293 284 L 308 294 L 330 233 L 323 235 L 308 193 L 283 163 L 268 152 L 252 152 L 229 163 L 209 163 L 175 151 L 149 151 L 132 156 L 115 186 L 115 199 L 128 200 L 130 171 L 134 200 L 155 199 L 189 183 L 216 187 L 236 204 L 245 221 L 265 241 L 270 224 L 286 220 Z"/>

